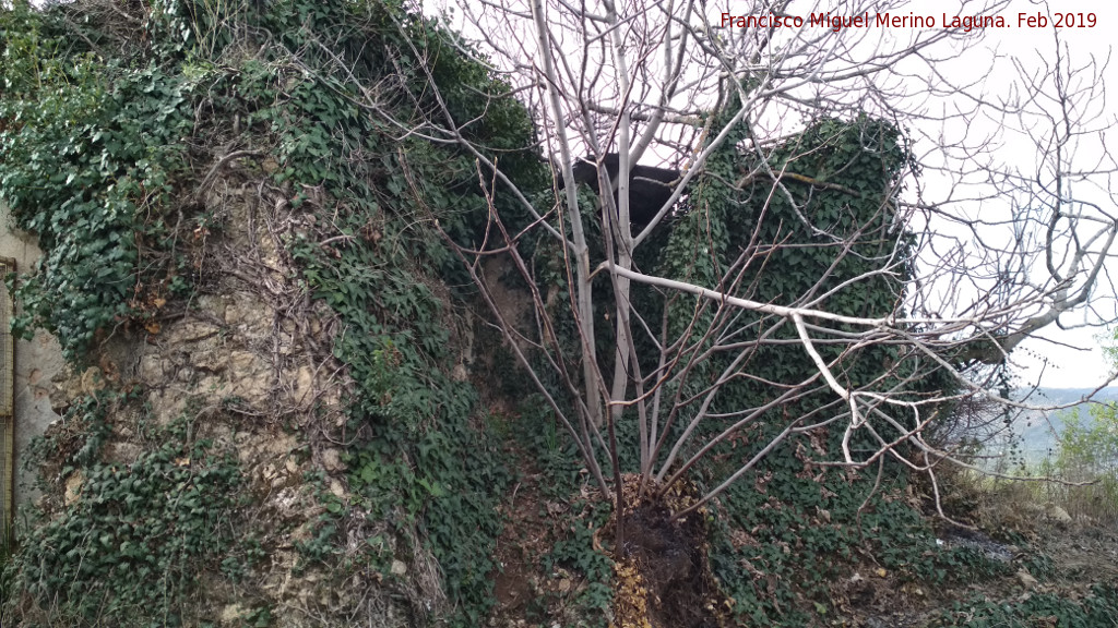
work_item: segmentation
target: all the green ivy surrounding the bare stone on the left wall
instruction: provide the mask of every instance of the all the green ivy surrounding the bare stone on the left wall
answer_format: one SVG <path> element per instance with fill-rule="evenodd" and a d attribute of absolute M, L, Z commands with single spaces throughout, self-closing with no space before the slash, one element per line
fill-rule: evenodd
<path fill-rule="evenodd" d="M 77 361 L 100 334 L 143 321 L 152 303 L 188 291 L 198 268 L 178 230 L 206 225 L 206 191 L 198 185 L 224 155 L 214 146 L 267 153 L 277 166 L 257 172 L 260 178 L 294 190 L 292 204 L 329 226 L 301 231 L 288 244 L 309 293 L 344 324 L 334 353 L 358 389 L 351 427 L 360 438 L 349 453 L 353 499 L 324 498 L 328 516 L 303 555 L 331 560 L 343 511 L 368 508 L 401 537 L 418 531 L 415 542 L 429 544 L 445 577 L 456 613 L 451 624 L 477 625 L 492 601 L 492 548 L 501 525 L 494 506 L 508 473 L 491 439 L 472 424 L 475 391 L 447 374 L 456 358 L 447 324 L 455 313 L 436 286 L 438 273 L 457 265 L 432 225 L 437 219 L 468 240 L 487 201 L 477 191 L 473 154 L 415 136 L 399 140 L 406 134 L 395 121 L 410 121 L 411 107 L 435 111 L 429 73 L 447 115 L 474 121 L 463 124 L 465 135 L 505 173 L 542 182 L 541 164 L 525 150 L 531 117 L 505 96 L 508 84 L 399 1 L 280 0 L 260 10 L 174 0 L 144 9 L 144 37 L 136 38 L 117 38 L 96 15 L 73 19 L 80 4 L 67 20 L 22 3 L 0 9 L 0 200 L 20 227 L 39 236 L 45 251 L 38 273 L 16 286 L 25 312 L 17 331 L 46 327 Z M 85 29 L 83 37 L 73 28 Z M 322 34 L 330 34 L 329 42 Z M 110 49 L 117 54 L 101 56 Z M 256 53 L 249 57 L 248 49 Z M 387 110 L 370 112 L 361 106 L 362 86 L 379 84 L 397 92 Z M 510 207 L 506 197 L 499 189 L 494 202 Z M 318 244 L 328 238 L 338 244 Z M 86 491 L 101 501 L 83 499 L 64 520 L 69 527 L 40 526 L 36 548 L 63 543 L 72 558 L 88 558 L 67 567 L 80 573 L 59 571 L 70 580 L 44 580 L 36 593 L 74 598 L 91 617 L 148 602 L 171 613 L 178 599 L 171 592 L 190 581 L 183 571 L 190 561 L 172 559 L 208 556 L 196 555 L 201 537 L 149 540 L 149 558 L 133 554 L 143 534 L 210 525 L 190 517 L 225 507 L 219 494 L 183 475 L 202 464 L 203 451 L 167 445 L 138 463 L 130 473 L 139 475 L 121 488 L 113 480 L 123 472 L 96 462 L 108 435 L 97 401 L 75 412 L 85 431 L 73 439 L 65 464 L 87 469 Z M 176 470 L 167 466 L 176 457 L 198 462 Z M 207 482 L 233 482 L 220 476 L 220 464 L 206 460 Z M 160 489 L 184 492 L 174 504 L 205 504 L 162 512 L 151 520 L 157 527 L 122 524 L 126 537 L 100 532 L 88 546 L 65 536 L 79 526 L 121 523 L 134 516 L 133 507 L 152 507 L 127 491 L 148 491 L 161 479 L 174 483 Z M 116 553 L 106 553 L 102 536 Z M 383 563 L 383 546 L 372 548 L 370 560 Z M 124 591 L 110 599 L 85 579 L 96 573 L 107 580 L 116 569 L 164 582 L 149 587 L 162 597 Z"/>

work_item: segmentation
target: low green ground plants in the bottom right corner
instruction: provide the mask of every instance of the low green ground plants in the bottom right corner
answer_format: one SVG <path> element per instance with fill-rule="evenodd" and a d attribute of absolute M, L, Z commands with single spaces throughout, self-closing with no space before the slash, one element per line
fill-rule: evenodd
<path fill-rule="evenodd" d="M 1118 627 L 1118 588 L 1096 584 L 1079 599 L 1055 593 L 1036 593 L 1011 602 L 974 598 L 955 602 L 929 625 L 936 628 L 1114 628 Z"/>

